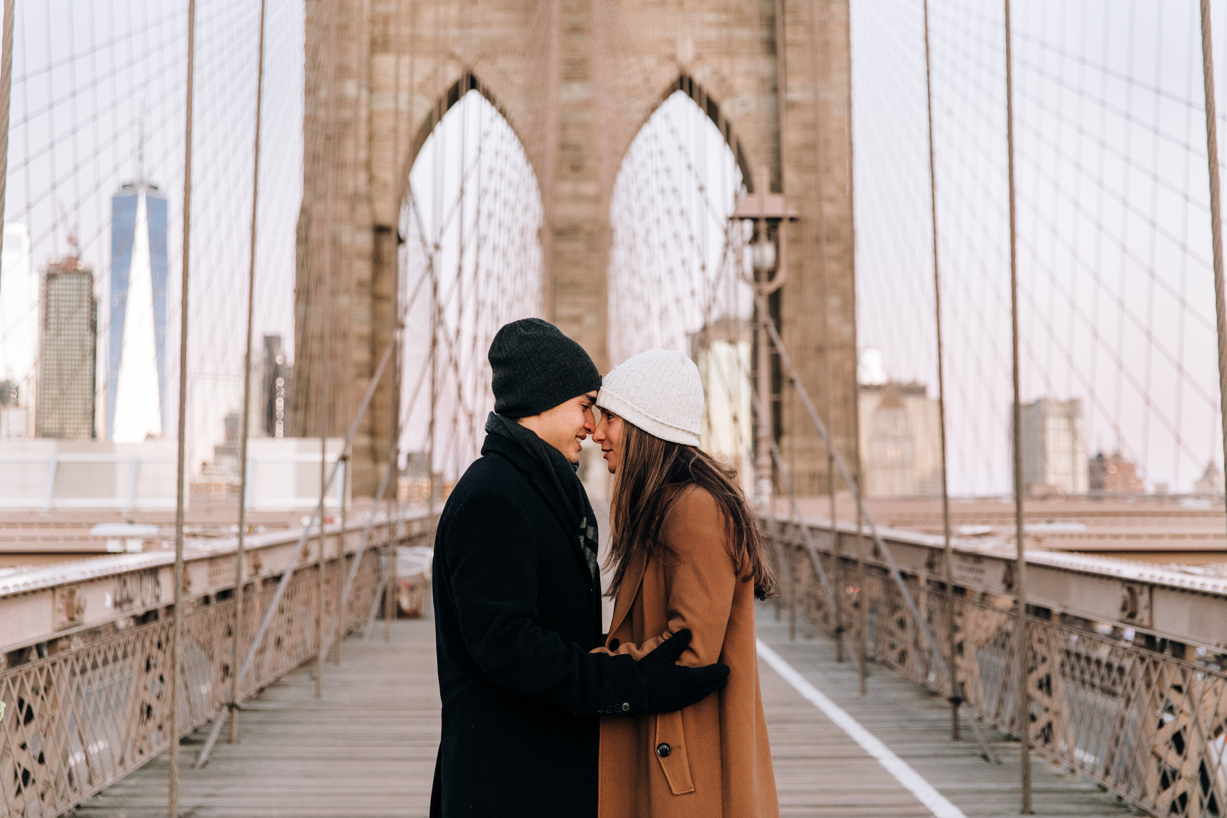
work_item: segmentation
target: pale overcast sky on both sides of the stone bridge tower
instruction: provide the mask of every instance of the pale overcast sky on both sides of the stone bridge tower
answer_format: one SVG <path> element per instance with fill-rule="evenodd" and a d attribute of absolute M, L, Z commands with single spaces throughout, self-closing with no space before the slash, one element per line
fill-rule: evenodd
<path fill-rule="evenodd" d="M 39 266 L 64 254 L 75 231 L 101 293 L 109 197 L 137 174 L 145 123 L 144 174 L 171 201 L 169 277 L 177 282 L 185 4 L 17 6 L 5 221 L 27 224 Z M 921 4 L 852 6 L 860 345 L 881 348 L 892 377 L 924 381 L 933 394 Z M 198 7 L 194 464 L 210 456 L 222 416 L 237 408 L 259 6 L 200 0 Z M 1092 451 L 1120 448 L 1152 484 L 1189 488 L 1210 457 L 1221 462 L 1196 0 L 1015 7 L 1025 399 L 1080 399 Z M 270 0 L 269 15 L 256 332 L 280 332 L 292 348 L 302 6 Z M 931 15 L 951 480 L 958 493 L 1004 492 L 1010 338 L 1001 4 L 933 0 Z M 1227 42 L 1225 32 L 1217 42 Z M 171 300 L 178 302 L 177 286 Z"/>

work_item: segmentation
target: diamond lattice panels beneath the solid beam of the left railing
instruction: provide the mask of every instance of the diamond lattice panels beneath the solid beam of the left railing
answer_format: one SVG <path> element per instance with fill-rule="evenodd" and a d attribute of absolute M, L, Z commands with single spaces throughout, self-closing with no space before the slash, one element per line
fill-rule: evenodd
<path fill-rule="evenodd" d="M 324 622 L 330 623 L 353 554 L 325 563 Z M 380 585 L 380 557 L 361 556 L 342 630 L 364 623 Z M 253 583 L 245 596 L 239 650 L 255 636 L 277 578 Z M 183 619 L 180 724 L 184 735 L 223 706 L 234 673 L 234 602 L 193 600 Z M 318 574 L 301 568 L 290 580 L 253 671 L 248 698 L 315 656 Z M 169 746 L 167 650 L 169 608 L 152 622 L 87 640 L 52 643 L 55 652 L 0 673 L 0 814 L 58 816 L 131 773 Z M 161 618 L 157 618 L 161 617 Z M 239 654 L 242 655 L 242 652 Z"/>

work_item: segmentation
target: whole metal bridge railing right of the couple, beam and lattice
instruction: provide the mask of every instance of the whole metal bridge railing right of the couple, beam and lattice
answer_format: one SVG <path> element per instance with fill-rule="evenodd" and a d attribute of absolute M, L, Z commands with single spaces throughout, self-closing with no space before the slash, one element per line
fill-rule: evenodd
<path fill-rule="evenodd" d="M 940 538 L 883 532 L 928 630 L 944 636 L 953 624 L 953 656 L 944 656 L 953 667 L 952 688 L 935 667 L 883 554 L 867 548 L 872 553 L 861 574 L 854 526 L 836 526 L 832 537 L 828 522 L 805 525 L 807 538 L 795 522 L 767 526 L 785 554 L 791 585 L 785 598 L 799 617 L 832 635 L 838 621 L 859 636 L 860 606 L 866 606 L 874 661 L 1020 736 L 1017 619 L 1006 549 L 960 543 L 961 570 L 948 605 Z M 838 619 L 806 540 L 817 545 L 825 573 L 839 589 Z M 1209 640 L 1174 633 L 1182 619 L 1195 629 L 1199 614 L 1202 627 L 1217 622 L 1227 602 L 1223 584 L 1093 557 L 1032 554 L 1028 563 L 1037 569 L 1027 617 L 1032 747 L 1152 816 L 1227 814 L 1227 628 Z M 1088 617 L 1087 606 L 1098 602 L 1080 597 L 1102 597 L 1104 583 L 1118 589 L 1118 610 Z"/>

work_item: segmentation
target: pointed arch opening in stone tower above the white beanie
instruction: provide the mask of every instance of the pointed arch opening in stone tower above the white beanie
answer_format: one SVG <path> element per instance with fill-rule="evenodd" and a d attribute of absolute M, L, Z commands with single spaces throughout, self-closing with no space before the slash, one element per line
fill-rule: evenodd
<path fill-rule="evenodd" d="M 747 163 L 714 101 L 680 77 L 622 158 L 610 197 L 611 363 L 658 347 L 699 367 L 703 445 L 750 475 Z"/>

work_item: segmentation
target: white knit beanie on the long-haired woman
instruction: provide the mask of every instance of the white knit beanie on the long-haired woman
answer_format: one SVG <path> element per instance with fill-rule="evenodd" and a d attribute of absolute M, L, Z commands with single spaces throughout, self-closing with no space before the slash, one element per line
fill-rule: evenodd
<path fill-rule="evenodd" d="M 698 445 L 703 381 L 681 352 L 648 350 L 622 362 L 605 375 L 596 405 L 661 440 Z"/>

